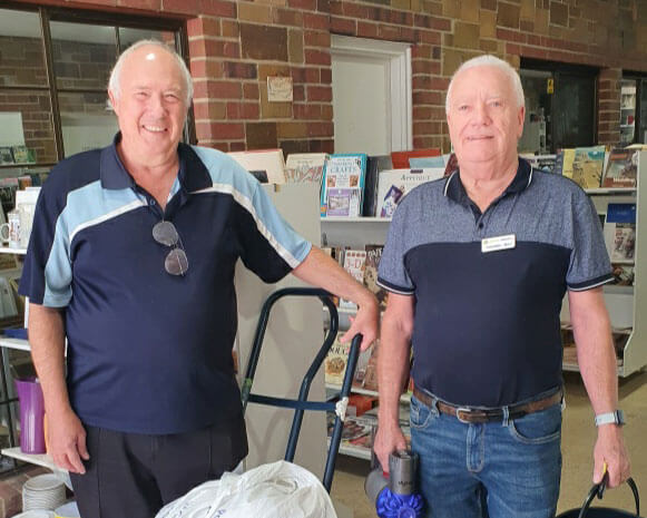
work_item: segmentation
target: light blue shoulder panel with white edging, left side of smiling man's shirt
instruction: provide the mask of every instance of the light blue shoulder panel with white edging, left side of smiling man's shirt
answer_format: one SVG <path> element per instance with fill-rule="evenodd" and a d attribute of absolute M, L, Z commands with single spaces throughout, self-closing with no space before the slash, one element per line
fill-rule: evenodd
<path fill-rule="evenodd" d="M 104 189 L 100 180 L 68 193 L 66 207 L 56 222 L 53 243 L 45 266 L 42 304 L 62 307 L 69 303 L 72 296 L 70 245 L 80 231 L 143 206 L 146 203 L 133 189 Z"/>

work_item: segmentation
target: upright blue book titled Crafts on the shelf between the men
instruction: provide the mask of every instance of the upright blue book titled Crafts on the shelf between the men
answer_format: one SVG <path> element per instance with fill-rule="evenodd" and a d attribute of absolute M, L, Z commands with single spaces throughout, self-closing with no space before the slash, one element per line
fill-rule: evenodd
<path fill-rule="evenodd" d="M 322 217 L 359 217 L 366 174 L 364 153 L 330 155 L 321 188 Z"/>

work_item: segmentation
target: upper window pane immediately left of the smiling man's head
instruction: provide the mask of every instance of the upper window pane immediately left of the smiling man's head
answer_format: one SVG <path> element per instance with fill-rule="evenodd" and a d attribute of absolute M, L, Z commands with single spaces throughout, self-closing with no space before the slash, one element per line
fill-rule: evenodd
<path fill-rule="evenodd" d="M 115 65 L 115 28 L 52 21 L 53 70 L 58 88 L 106 90 Z"/>

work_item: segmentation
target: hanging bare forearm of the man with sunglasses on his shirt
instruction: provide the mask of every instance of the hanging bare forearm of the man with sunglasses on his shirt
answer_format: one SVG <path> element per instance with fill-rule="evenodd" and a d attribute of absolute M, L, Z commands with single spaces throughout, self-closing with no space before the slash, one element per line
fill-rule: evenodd
<path fill-rule="evenodd" d="M 29 305 L 29 344 L 48 413 L 68 410 L 65 382 L 65 325 L 59 310 Z"/>

